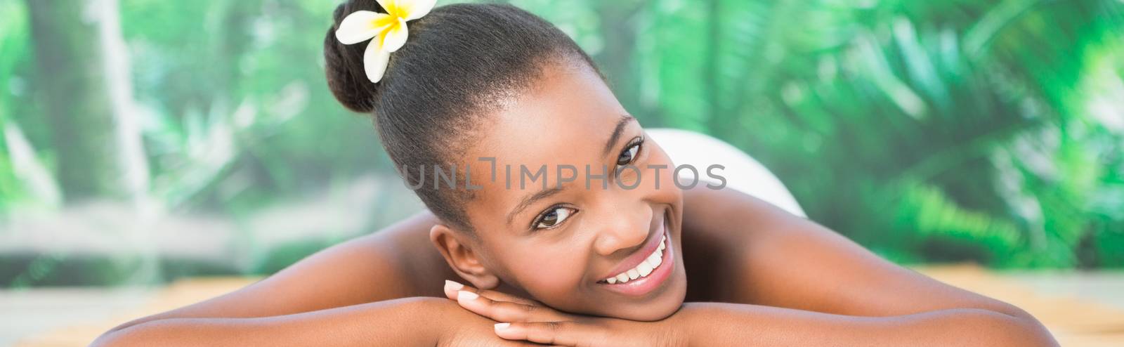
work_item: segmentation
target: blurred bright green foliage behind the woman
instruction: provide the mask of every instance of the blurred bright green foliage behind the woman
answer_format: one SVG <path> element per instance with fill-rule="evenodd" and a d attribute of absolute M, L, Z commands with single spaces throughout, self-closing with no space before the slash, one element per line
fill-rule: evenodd
<path fill-rule="evenodd" d="M 0 0 L 8 217 L 67 204 L 29 188 L 7 138 L 20 130 L 36 161 L 58 166 L 27 1 Z M 814 220 L 883 256 L 1124 266 L 1124 2 L 509 2 L 570 34 L 644 126 L 743 148 Z M 324 83 L 334 1 L 119 6 L 154 203 L 238 220 L 390 172 L 370 122 Z M 273 265 L 236 272 L 269 272 L 324 244 L 310 245 L 265 252 L 261 262 Z M 61 268 L 69 255 L 46 256 L 52 266 L 43 258 L 0 274 L 43 283 L 27 273 Z"/>

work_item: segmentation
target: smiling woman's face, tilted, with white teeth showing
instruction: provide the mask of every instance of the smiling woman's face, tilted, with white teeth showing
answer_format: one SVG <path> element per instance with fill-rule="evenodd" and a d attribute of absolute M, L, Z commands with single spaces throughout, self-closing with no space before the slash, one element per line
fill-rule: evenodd
<path fill-rule="evenodd" d="M 465 212 L 504 285 L 577 313 L 656 320 L 680 307 L 673 164 L 596 72 L 554 65 L 481 129 Z"/>

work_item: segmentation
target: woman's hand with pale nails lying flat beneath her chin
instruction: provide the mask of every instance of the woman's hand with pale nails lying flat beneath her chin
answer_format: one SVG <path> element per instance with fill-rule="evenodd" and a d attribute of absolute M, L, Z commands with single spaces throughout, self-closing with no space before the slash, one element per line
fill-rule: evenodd
<path fill-rule="evenodd" d="M 537 301 L 478 290 L 456 282 L 445 283 L 445 295 L 460 307 L 498 321 L 496 335 L 559 346 L 685 346 L 676 316 L 640 322 L 560 312 Z"/>

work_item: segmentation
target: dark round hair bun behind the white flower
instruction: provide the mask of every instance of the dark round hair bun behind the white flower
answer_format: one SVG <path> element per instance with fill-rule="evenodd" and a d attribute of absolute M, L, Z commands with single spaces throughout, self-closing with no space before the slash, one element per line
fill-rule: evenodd
<path fill-rule="evenodd" d="M 366 45 L 344 45 L 336 40 L 336 28 L 347 15 L 360 11 L 386 12 L 375 0 L 351 0 L 336 7 L 334 24 L 324 37 L 324 73 L 332 94 L 352 111 L 374 111 L 374 95 L 379 84 L 371 83 L 363 71 L 363 51 Z"/>

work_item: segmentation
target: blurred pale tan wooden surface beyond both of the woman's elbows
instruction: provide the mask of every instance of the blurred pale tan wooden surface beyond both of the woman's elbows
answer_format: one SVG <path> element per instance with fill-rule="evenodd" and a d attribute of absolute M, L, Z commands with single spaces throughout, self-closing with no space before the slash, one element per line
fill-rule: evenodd
<path fill-rule="evenodd" d="M 978 266 L 928 266 L 915 268 L 945 283 L 1009 302 L 1037 317 L 1062 346 L 1124 346 L 1124 310 L 1078 298 L 1048 296 Z M 143 308 L 117 318 L 89 322 L 33 336 L 17 346 L 85 346 L 98 335 L 127 320 L 212 298 L 256 278 L 188 278 L 162 289 Z M 1124 293 L 1122 293 L 1124 295 Z"/>

